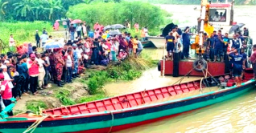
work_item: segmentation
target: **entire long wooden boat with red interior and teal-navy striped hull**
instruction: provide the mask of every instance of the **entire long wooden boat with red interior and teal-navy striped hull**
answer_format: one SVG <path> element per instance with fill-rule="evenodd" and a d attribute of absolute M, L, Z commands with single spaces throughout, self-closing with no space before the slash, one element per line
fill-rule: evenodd
<path fill-rule="evenodd" d="M 215 78 L 221 79 L 220 77 L 223 79 L 226 75 Z M 27 131 L 35 129 L 35 133 L 119 131 L 236 98 L 255 87 L 253 72 L 247 71 L 245 77 L 242 86 L 225 87 L 209 92 L 204 92 L 204 89 L 209 86 L 207 81 L 210 78 L 204 79 L 201 84 L 204 93 L 185 98 L 180 98 L 180 95 L 200 90 L 200 80 L 49 109 L 43 111 L 43 115 L 16 115 L 0 119 L 0 132 L 23 132 L 28 127 Z M 233 79 L 225 78 L 225 82 L 233 83 Z M 31 127 L 33 123 L 35 126 Z"/>

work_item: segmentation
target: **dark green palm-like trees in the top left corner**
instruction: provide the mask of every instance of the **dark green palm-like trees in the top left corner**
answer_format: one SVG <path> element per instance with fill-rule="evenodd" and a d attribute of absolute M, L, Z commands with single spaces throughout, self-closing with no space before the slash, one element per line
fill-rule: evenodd
<path fill-rule="evenodd" d="M 2 0 L 2 19 L 6 20 L 56 20 L 64 16 L 68 6 L 64 4 L 77 4 L 81 1 L 70 0 Z"/>

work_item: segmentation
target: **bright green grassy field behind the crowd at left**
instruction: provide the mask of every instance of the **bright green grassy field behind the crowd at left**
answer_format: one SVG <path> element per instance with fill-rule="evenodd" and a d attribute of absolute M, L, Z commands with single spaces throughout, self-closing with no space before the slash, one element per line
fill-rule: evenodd
<path fill-rule="evenodd" d="M 52 31 L 49 22 L 0 22 L 2 52 L 9 50 L 10 34 L 14 34 L 14 40 L 19 45 L 23 42 L 35 42 L 35 30 L 39 30 L 39 34 L 42 34 L 43 28 L 46 28 L 48 32 Z"/>

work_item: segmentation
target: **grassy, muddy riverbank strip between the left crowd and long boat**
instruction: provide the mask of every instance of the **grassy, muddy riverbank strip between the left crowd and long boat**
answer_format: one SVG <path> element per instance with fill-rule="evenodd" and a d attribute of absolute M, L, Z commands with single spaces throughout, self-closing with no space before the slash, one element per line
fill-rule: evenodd
<path fill-rule="evenodd" d="M 80 78 L 64 87 L 39 90 L 39 94 L 23 95 L 14 107 L 14 114 L 30 110 L 39 113 L 43 109 L 55 108 L 104 99 L 109 95 L 103 89 L 106 83 L 131 81 L 142 76 L 143 71 L 156 67 L 157 60 L 151 59 L 151 50 L 143 50 L 141 58 L 126 58 L 125 61 L 109 64 L 108 67 L 95 66 L 85 71 Z M 118 89 L 118 87 L 116 88 Z"/>

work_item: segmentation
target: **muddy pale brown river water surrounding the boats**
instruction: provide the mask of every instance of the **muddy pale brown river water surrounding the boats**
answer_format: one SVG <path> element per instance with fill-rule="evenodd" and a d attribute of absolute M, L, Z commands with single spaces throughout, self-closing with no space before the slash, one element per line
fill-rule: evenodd
<path fill-rule="evenodd" d="M 194 22 L 199 17 L 199 11 L 193 10 L 195 6 L 171 6 L 160 5 L 171 12 L 175 22 Z M 200 6 L 197 6 L 199 8 Z M 250 36 L 256 39 L 253 11 L 256 6 L 235 6 L 234 21 L 246 23 L 250 30 Z M 255 40 L 254 39 L 254 40 Z M 159 59 L 163 50 L 150 50 L 154 58 Z M 143 91 L 155 87 L 163 87 L 175 83 L 180 78 L 160 76 L 156 68 L 145 71 L 141 78 L 131 82 L 109 83 L 104 89 L 108 95 L 122 95 L 135 91 Z M 183 82 L 200 79 L 199 77 L 185 78 Z M 118 133 L 212 133 L 212 132 L 256 132 L 256 91 L 250 91 L 240 97 L 230 99 L 223 103 L 217 103 L 196 111 L 183 113 L 175 118 L 163 119 L 155 123 L 149 123 L 139 127 L 133 127 Z"/>

